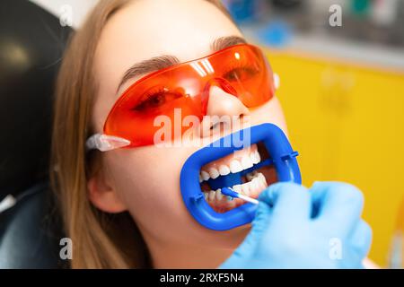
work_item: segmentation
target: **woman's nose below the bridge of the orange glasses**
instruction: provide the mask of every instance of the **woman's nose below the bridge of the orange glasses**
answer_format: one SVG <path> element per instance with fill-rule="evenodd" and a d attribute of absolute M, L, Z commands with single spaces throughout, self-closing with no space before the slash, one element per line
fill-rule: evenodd
<path fill-rule="evenodd" d="M 209 89 L 206 116 L 202 119 L 201 137 L 210 136 L 225 129 L 230 129 L 237 121 L 242 122 L 245 116 L 250 115 L 250 110 L 244 106 L 233 94 L 222 88 L 212 85 Z"/>

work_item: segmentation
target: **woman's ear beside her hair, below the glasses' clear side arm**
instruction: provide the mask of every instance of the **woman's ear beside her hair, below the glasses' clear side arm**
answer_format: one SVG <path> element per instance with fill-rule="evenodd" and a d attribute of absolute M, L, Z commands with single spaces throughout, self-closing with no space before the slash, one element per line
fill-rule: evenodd
<path fill-rule="evenodd" d="M 88 196 L 92 204 L 105 213 L 121 213 L 127 210 L 116 190 L 111 187 L 102 169 L 87 181 Z"/>

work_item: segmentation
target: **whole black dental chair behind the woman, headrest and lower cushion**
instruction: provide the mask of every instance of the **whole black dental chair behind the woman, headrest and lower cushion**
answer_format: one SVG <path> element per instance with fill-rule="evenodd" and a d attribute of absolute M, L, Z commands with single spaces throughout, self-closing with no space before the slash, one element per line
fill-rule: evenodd
<path fill-rule="evenodd" d="M 71 29 L 28 0 L 0 2 L 0 268 L 63 268 L 48 184 L 54 84 Z"/>

